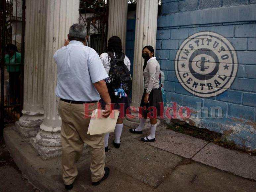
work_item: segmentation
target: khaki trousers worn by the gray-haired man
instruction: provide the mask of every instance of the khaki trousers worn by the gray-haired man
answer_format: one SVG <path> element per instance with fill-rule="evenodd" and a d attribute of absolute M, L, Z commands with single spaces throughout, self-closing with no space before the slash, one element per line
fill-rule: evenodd
<path fill-rule="evenodd" d="M 89 110 L 97 109 L 89 104 Z M 59 102 L 59 115 L 62 119 L 61 144 L 62 144 L 62 170 L 64 184 L 72 184 L 77 177 L 77 161 L 82 155 L 83 144 L 86 143 L 91 155 L 91 181 L 97 182 L 104 176 L 105 151 L 104 134 L 88 135 L 87 130 L 90 119 L 85 117 L 84 104 L 70 104 Z M 87 111 L 87 110 L 86 110 Z M 91 116 L 91 112 L 87 114 Z"/>

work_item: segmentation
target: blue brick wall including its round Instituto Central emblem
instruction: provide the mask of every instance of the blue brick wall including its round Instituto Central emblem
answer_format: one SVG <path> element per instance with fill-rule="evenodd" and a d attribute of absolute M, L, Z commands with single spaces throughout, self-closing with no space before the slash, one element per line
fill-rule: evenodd
<path fill-rule="evenodd" d="M 178 108 L 186 106 L 190 115 L 177 119 L 252 150 L 256 149 L 255 10 L 255 0 L 162 0 L 156 42 L 165 73 L 166 108 L 172 102 Z"/>

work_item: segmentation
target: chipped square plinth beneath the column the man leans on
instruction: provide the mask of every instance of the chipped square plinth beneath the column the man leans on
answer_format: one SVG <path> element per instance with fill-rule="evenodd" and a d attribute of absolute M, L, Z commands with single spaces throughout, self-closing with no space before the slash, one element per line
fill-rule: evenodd
<path fill-rule="evenodd" d="M 38 152 L 40 157 L 42 157 L 44 160 L 49 160 L 49 159 L 53 159 L 55 157 L 61 156 L 62 147 L 45 147 L 45 146 L 39 145 L 36 142 L 35 137 L 32 137 L 30 139 L 30 143 Z"/>

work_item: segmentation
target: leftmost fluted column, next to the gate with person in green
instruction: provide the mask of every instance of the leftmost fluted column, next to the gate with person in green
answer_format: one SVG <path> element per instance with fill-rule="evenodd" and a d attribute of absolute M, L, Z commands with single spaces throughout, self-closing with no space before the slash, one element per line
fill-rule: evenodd
<path fill-rule="evenodd" d="M 24 105 L 23 116 L 16 122 L 25 138 L 35 136 L 43 121 L 45 11 L 45 0 L 26 1 Z"/>

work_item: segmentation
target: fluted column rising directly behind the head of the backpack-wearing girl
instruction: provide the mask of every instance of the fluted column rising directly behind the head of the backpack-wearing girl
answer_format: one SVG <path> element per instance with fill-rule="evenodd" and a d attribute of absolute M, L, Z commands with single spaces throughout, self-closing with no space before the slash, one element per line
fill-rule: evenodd
<path fill-rule="evenodd" d="M 108 16 L 108 39 L 114 35 L 122 40 L 123 52 L 126 46 L 127 0 L 110 0 Z"/>

